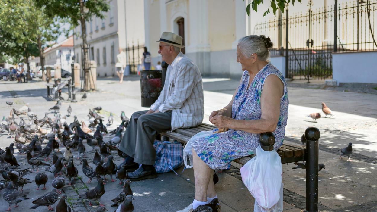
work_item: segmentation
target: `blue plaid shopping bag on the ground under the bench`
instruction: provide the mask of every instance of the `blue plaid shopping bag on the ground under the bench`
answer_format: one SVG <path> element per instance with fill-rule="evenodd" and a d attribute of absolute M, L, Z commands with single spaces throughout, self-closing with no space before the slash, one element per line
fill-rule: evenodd
<path fill-rule="evenodd" d="M 156 150 L 155 169 L 157 173 L 167 173 L 183 165 L 183 146 L 178 141 L 155 140 Z M 175 171 L 174 173 L 178 175 Z"/>

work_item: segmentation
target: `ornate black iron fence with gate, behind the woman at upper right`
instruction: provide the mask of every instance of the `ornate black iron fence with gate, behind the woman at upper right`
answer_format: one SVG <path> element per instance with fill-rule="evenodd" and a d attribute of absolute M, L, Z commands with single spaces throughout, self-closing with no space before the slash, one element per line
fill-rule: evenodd
<path fill-rule="evenodd" d="M 312 10 L 313 2 L 309 1 L 307 12 L 285 14 L 285 18 L 279 15 L 256 24 L 254 34 L 270 36 L 277 46 L 271 50 L 271 56 L 286 56 L 287 77 L 331 78 L 334 51 L 377 50 L 374 38 L 377 1 L 347 2 L 334 9 L 335 5 Z M 286 46 L 288 56 L 284 51 Z"/>

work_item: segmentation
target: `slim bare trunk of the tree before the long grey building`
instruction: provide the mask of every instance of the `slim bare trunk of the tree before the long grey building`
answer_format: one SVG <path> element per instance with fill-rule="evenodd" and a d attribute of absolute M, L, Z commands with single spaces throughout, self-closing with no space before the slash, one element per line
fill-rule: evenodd
<path fill-rule="evenodd" d="M 81 12 L 81 17 L 80 17 L 80 23 L 81 23 L 81 37 L 83 38 L 83 72 L 84 72 L 84 91 L 90 91 L 90 67 L 89 67 L 89 52 L 88 52 L 88 44 L 86 41 L 86 26 L 85 26 L 85 17 L 84 17 L 84 3 L 83 0 L 79 0 L 80 3 L 80 12 Z"/>

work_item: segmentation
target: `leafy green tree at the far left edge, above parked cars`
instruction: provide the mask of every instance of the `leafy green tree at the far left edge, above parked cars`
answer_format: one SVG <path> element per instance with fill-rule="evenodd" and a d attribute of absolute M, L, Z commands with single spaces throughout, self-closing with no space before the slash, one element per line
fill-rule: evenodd
<path fill-rule="evenodd" d="M 29 56 L 40 56 L 44 70 L 43 48 L 59 35 L 56 19 L 44 15 L 43 8 L 37 8 L 34 0 L 0 0 L 0 34 L 6 38 L 3 52 L 14 58 L 22 55 L 28 65 Z M 42 72 L 44 75 L 44 71 Z M 29 74 L 28 74 L 29 76 Z"/>

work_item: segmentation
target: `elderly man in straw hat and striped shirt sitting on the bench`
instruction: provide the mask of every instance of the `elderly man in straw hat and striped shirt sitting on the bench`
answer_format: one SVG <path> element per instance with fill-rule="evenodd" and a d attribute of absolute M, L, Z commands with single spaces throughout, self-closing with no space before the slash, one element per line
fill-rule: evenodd
<path fill-rule="evenodd" d="M 150 110 L 132 114 L 119 146 L 128 155 L 124 164 L 132 181 L 157 177 L 153 142 L 158 133 L 196 126 L 204 116 L 202 77 L 193 61 L 182 54 L 182 37 L 164 32 L 156 42 L 162 60 L 169 64 L 164 88 Z"/>

